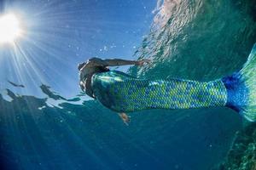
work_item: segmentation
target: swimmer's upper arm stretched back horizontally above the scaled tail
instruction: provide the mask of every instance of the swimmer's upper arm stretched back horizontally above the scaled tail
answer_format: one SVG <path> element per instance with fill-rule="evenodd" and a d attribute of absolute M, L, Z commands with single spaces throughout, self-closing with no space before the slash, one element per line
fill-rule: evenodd
<path fill-rule="evenodd" d="M 137 61 L 126 60 L 126 59 L 99 59 L 99 58 L 89 59 L 89 63 L 93 66 L 143 65 L 144 63 L 148 63 L 149 61 L 150 61 L 149 59 L 142 59 Z"/>

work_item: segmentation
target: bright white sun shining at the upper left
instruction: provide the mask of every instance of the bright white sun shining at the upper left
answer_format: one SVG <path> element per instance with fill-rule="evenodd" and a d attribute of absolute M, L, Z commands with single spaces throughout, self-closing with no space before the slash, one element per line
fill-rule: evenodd
<path fill-rule="evenodd" d="M 20 21 L 15 14 L 0 16 L 0 44 L 14 43 L 21 35 Z"/>

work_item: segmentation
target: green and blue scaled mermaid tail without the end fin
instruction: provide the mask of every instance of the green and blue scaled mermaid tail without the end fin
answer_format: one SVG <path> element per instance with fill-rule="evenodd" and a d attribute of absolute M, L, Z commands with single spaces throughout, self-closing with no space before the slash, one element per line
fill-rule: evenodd
<path fill-rule="evenodd" d="M 221 80 L 147 80 L 108 71 L 93 76 L 92 88 L 102 105 L 119 112 L 224 106 L 227 101 Z"/>

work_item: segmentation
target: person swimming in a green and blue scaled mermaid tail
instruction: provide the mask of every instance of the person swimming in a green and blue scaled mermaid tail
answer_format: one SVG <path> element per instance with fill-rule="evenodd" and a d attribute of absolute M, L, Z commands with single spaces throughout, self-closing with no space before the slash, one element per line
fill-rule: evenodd
<path fill-rule="evenodd" d="M 125 124 L 130 121 L 127 112 L 214 106 L 229 107 L 248 121 L 256 121 L 256 44 L 240 71 L 211 82 L 140 79 L 108 69 L 108 66 L 149 62 L 148 59 L 89 59 L 79 64 L 80 88 L 119 113 Z"/>

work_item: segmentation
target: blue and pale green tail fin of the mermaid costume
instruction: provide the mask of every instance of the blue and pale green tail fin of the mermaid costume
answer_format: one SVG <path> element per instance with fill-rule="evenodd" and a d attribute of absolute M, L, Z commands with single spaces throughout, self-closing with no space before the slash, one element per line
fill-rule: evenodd
<path fill-rule="evenodd" d="M 256 121 L 256 44 L 241 71 L 222 79 L 227 88 L 226 106 L 248 121 Z"/>

